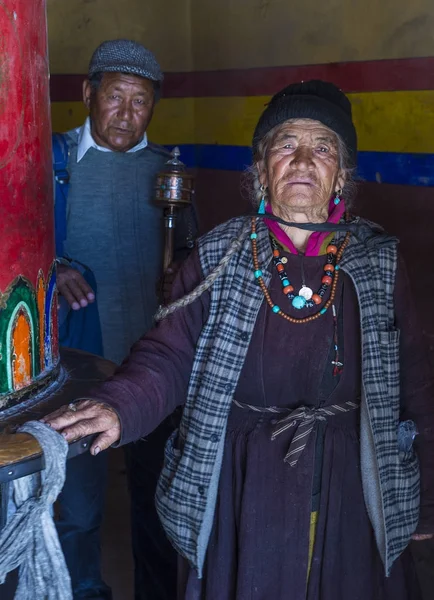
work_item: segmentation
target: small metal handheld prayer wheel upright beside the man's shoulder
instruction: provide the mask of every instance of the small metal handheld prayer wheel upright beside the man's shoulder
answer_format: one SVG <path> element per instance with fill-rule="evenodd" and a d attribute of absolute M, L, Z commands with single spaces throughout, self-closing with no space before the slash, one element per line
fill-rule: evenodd
<path fill-rule="evenodd" d="M 179 148 L 174 148 L 172 158 L 167 161 L 166 169 L 157 176 L 155 186 L 155 202 L 164 208 L 164 272 L 173 261 L 177 212 L 192 203 L 194 194 L 193 175 L 186 172 L 179 156 Z"/>

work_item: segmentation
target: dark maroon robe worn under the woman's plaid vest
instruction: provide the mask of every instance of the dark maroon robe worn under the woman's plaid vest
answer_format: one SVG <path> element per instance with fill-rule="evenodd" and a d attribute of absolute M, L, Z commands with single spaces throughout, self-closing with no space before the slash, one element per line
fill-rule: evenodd
<path fill-rule="evenodd" d="M 283 252 L 290 279 L 319 287 L 324 256 Z M 270 293 L 292 308 L 273 270 Z M 184 264 L 174 296 L 202 280 L 197 252 Z M 206 321 L 209 294 L 179 310 L 142 338 L 98 398 L 119 413 L 122 443 L 152 431 L 185 401 L 195 345 Z M 396 326 L 401 329 L 402 418 L 415 420 L 422 471 L 418 531 L 434 532 L 434 384 L 417 325 L 409 283 L 400 264 L 395 288 Z M 333 375 L 333 317 L 292 324 L 264 302 L 255 325 L 235 397 L 257 406 L 327 406 L 360 397 L 361 343 L 358 303 L 341 272 L 336 296 L 343 372 Z M 389 578 L 366 512 L 360 477 L 359 411 L 317 425 L 296 467 L 284 462 L 293 430 L 271 441 L 275 415 L 235 406 L 229 415 L 214 527 L 204 577 L 181 569 L 186 600 L 418 600 L 408 551 Z M 320 466 L 318 470 L 318 465 Z M 314 556 L 306 595 L 310 515 L 319 507 Z"/>

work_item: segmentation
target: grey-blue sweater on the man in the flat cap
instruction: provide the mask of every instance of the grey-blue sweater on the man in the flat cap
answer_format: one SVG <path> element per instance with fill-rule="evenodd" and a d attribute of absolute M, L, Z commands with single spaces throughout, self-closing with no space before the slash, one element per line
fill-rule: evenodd
<path fill-rule="evenodd" d="M 157 307 L 163 219 L 154 186 L 170 156 L 155 145 L 131 153 L 90 148 L 77 163 L 78 134 L 67 136 L 65 254 L 94 272 L 104 356 L 120 363 L 152 327 Z"/>

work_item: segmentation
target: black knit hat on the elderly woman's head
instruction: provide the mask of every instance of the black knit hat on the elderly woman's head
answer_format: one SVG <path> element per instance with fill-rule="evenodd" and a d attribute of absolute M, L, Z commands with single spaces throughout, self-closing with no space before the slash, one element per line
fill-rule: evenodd
<path fill-rule="evenodd" d="M 351 103 L 333 83 L 303 81 L 292 83 L 271 99 L 262 113 L 253 135 L 253 154 L 259 142 L 273 127 L 289 119 L 319 121 L 343 139 L 352 165 L 357 162 L 357 133 L 354 127 Z"/>

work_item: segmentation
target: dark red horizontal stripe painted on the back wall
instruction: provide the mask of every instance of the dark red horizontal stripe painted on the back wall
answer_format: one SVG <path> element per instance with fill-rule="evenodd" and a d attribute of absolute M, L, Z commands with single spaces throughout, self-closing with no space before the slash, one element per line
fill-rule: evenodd
<path fill-rule="evenodd" d="M 84 78 L 52 75 L 52 101 L 81 100 Z M 166 73 L 163 96 L 269 96 L 289 83 L 307 79 L 332 81 L 344 92 L 434 90 L 434 57 Z"/>

